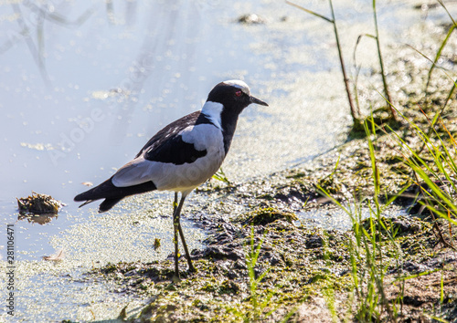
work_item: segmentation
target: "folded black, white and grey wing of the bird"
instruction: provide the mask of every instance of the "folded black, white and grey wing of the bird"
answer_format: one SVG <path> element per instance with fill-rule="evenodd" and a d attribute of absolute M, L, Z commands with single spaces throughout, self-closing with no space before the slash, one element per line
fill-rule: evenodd
<path fill-rule="evenodd" d="M 223 160 L 220 130 L 210 122 L 196 125 L 196 118 L 177 121 L 148 141 L 132 162 L 112 176 L 112 183 L 127 187 L 152 181 L 158 190 L 171 190 L 197 186 L 216 172 L 218 168 L 213 169 Z M 217 157 L 207 156 L 208 151 Z"/>

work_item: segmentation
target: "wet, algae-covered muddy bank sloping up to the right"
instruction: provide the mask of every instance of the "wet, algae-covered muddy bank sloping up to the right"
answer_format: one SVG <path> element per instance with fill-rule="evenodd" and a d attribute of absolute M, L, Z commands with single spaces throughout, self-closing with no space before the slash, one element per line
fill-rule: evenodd
<path fill-rule="evenodd" d="M 442 26 L 441 36 L 444 30 Z M 207 182 L 197 194 L 209 202 L 187 209 L 185 215 L 209 234 L 206 247 L 192 251 L 197 273 L 186 272 L 186 259 L 181 257 L 183 274 L 174 282 L 173 255 L 165 261 L 111 264 L 88 273 L 91 278 L 116 282 L 112 292 L 150 297 L 146 307 L 126 307 L 120 318 L 138 322 L 355 319 L 353 231 L 310 227 L 297 214 L 325 210 L 331 216 L 338 210 L 323 190 L 344 205 L 357 201 L 369 207 L 375 177 L 382 202 L 408 187 L 382 218 L 361 223 L 367 232 L 379 221 L 386 226 L 386 232 L 376 234 L 382 250 L 380 267 L 385 269 L 383 297 L 396 304 L 401 322 L 456 321 L 455 227 L 433 219 L 418 203 L 420 182 L 405 164 L 398 137 L 393 135 L 395 130 L 401 140 L 419 150 L 418 131 L 408 120 L 427 131 L 429 119 L 441 109 L 450 88 L 441 86 L 445 77 L 437 75 L 431 79 L 430 95 L 425 99 L 419 89 L 427 80 L 427 68 L 418 68 L 417 59 L 409 54 L 399 55 L 389 64 L 398 67 L 391 73 L 392 84 L 401 84 L 405 75 L 409 84 L 401 89 L 405 96 L 398 96 L 400 113 L 395 125 L 388 123 L 386 110 L 374 113 L 377 133 L 370 138 L 377 174 L 373 174 L 366 135 L 353 133 L 345 144 L 292 170 L 251 182 Z M 362 92 L 371 90 L 360 87 Z M 444 122 L 436 126 L 436 134 L 455 134 L 456 112 L 457 106 L 450 102 L 441 113 Z M 438 141 L 436 136 L 432 138 Z M 452 142 L 448 144 L 451 147 Z M 427 160 L 425 151 L 422 157 Z M 388 217 L 394 207 L 406 210 L 405 214 Z M 395 235 L 388 238 L 387 232 Z M 250 276 L 249 260 L 257 250 Z M 366 319 L 388 321 L 388 315 Z"/>

